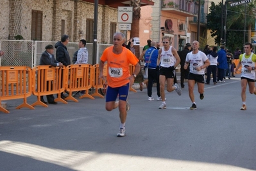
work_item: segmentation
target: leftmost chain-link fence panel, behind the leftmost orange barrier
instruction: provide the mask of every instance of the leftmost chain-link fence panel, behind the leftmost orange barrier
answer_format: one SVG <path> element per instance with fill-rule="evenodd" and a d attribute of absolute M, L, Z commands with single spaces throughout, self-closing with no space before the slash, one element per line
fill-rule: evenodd
<path fill-rule="evenodd" d="M 33 41 L 1 40 L 1 66 L 33 67 Z"/>

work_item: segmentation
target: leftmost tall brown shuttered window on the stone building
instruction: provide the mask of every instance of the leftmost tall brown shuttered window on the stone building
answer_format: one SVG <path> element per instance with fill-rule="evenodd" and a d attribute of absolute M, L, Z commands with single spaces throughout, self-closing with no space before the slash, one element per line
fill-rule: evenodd
<path fill-rule="evenodd" d="M 42 40 L 42 12 L 32 10 L 31 40 Z"/>

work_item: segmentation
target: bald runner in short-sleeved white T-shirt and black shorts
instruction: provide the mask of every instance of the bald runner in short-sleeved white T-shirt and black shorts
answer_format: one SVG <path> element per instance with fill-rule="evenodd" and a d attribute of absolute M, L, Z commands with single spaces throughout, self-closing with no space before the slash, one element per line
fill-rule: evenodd
<path fill-rule="evenodd" d="M 196 101 L 194 101 L 194 85 L 198 84 L 198 92 L 200 93 L 200 99 L 203 100 L 203 92 L 205 91 L 205 71 L 204 68 L 210 65 L 205 53 L 198 50 L 199 42 L 194 41 L 192 43 L 192 52 L 187 54 L 184 69 L 190 64 L 189 72 L 189 97 L 192 102 L 191 110 L 196 110 Z"/>

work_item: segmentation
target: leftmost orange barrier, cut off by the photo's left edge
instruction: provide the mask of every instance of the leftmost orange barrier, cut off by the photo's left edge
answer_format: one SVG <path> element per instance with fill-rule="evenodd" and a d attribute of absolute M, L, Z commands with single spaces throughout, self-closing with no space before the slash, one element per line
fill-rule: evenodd
<path fill-rule="evenodd" d="M 27 103 L 27 97 L 31 95 L 31 68 L 30 67 L 0 67 L 0 104 L 3 100 L 23 99 L 23 103 L 16 109 L 35 109 Z M 28 83 L 28 85 L 26 85 Z M 0 111 L 10 111 L 0 106 Z"/>

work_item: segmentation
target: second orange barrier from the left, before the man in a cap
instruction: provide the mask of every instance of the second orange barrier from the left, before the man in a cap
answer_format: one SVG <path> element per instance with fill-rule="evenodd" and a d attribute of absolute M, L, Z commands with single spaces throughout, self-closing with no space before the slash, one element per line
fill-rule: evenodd
<path fill-rule="evenodd" d="M 65 67 L 52 67 L 50 65 L 38 65 L 33 69 L 33 95 L 37 95 L 37 101 L 31 106 L 44 106 L 47 104 L 40 101 L 40 96 L 58 94 L 55 101 L 67 104 L 60 94 L 65 90 Z"/>

